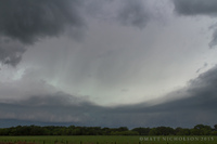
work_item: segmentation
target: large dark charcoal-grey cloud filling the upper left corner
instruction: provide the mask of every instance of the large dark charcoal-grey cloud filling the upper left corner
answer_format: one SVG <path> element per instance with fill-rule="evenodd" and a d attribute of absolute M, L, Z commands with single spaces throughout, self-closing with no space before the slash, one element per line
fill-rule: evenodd
<path fill-rule="evenodd" d="M 59 36 L 69 27 L 74 38 L 79 39 L 84 28 L 79 5 L 78 0 L 1 0 L 0 35 L 26 45 Z M 9 48 L 2 41 L 0 44 L 0 61 L 4 64 L 16 65 L 26 50 L 24 45 L 15 48 L 15 43 Z"/>

